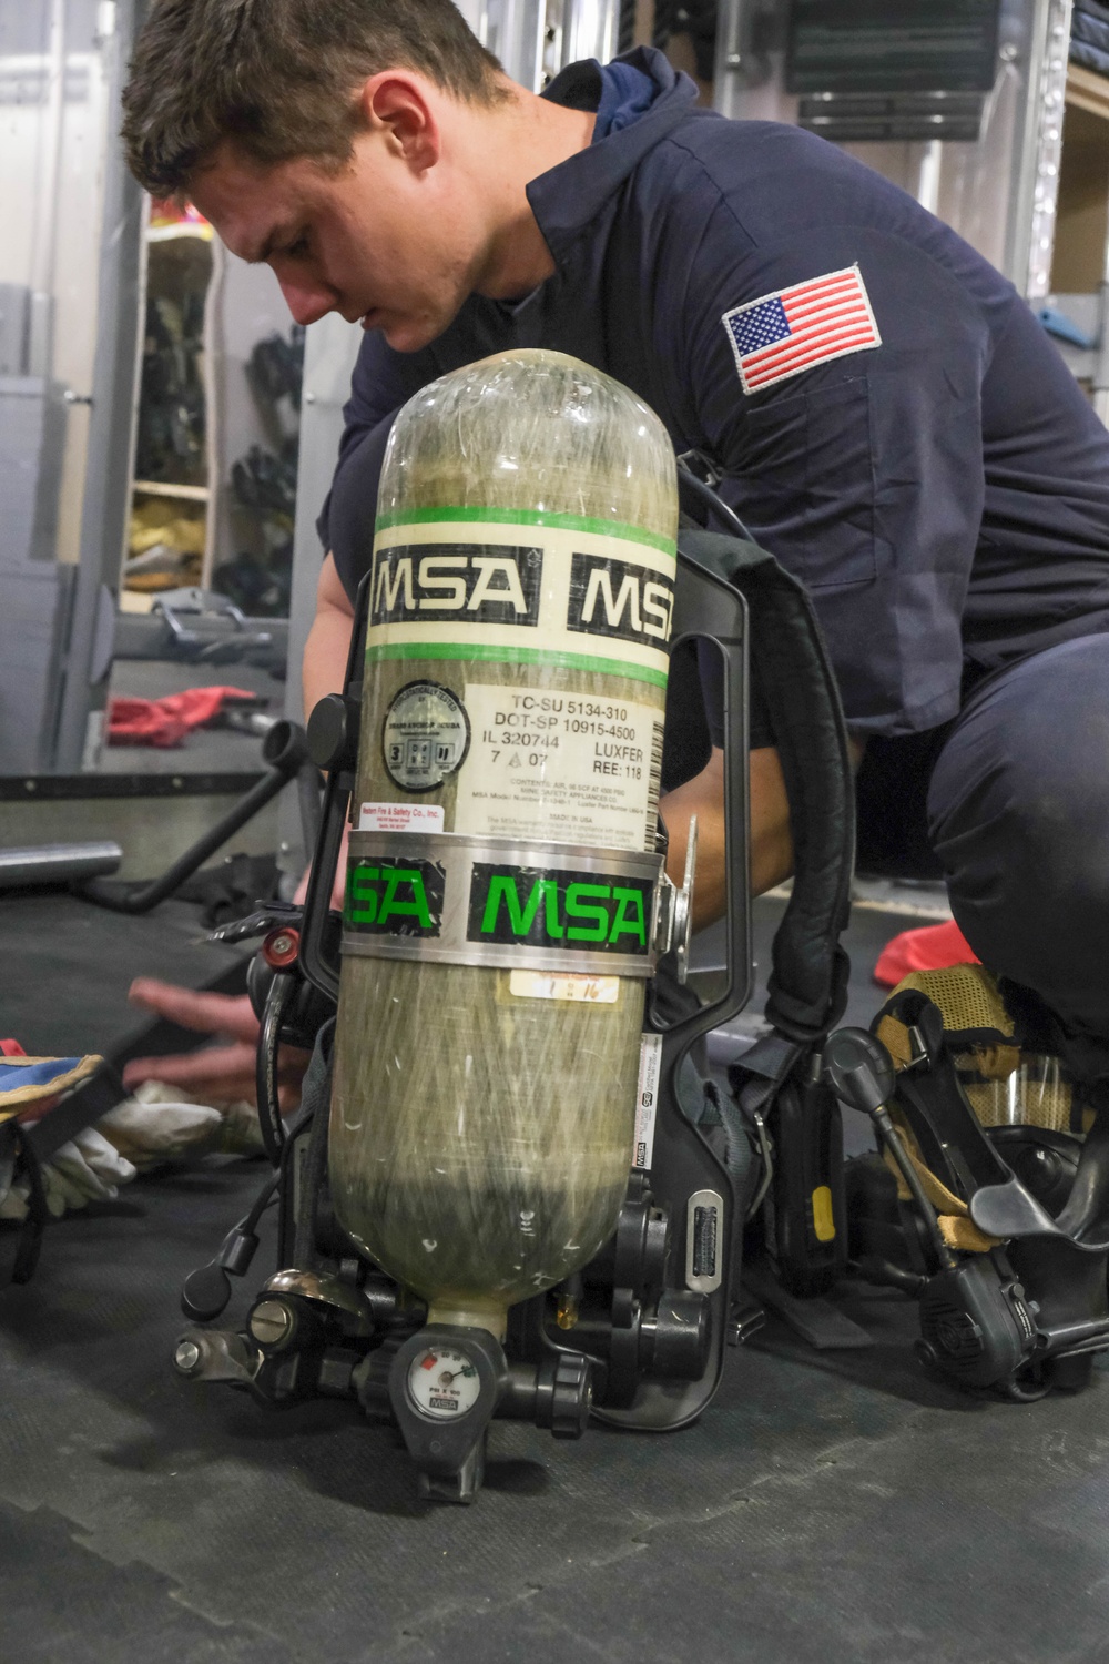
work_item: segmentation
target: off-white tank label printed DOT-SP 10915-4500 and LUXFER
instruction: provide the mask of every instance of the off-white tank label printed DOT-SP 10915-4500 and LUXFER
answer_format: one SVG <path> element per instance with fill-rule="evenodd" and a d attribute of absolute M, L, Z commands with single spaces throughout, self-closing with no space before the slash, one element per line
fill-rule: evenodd
<path fill-rule="evenodd" d="M 632 699 L 467 684 L 454 830 L 653 850 L 662 714 Z"/>

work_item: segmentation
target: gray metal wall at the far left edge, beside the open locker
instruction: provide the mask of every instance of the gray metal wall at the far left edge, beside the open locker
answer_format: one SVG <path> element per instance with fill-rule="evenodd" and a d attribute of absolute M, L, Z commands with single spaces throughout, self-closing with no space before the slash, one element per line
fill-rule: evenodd
<path fill-rule="evenodd" d="M 141 288 L 115 128 L 140 3 L 0 0 L 5 775 L 80 769 L 106 697 Z"/>

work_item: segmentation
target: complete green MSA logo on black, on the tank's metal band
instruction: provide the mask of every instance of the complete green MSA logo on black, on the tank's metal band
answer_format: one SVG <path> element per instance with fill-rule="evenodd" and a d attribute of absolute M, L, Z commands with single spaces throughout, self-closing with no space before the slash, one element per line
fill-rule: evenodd
<path fill-rule="evenodd" d="M 653 884 L 474 862 L 467 938 L 569 953 L 650 950 Z"/>

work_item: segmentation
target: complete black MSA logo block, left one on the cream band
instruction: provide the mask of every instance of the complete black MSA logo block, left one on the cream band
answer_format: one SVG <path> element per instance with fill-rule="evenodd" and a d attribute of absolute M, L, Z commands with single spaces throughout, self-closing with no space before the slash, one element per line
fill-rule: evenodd
<path fill-rule="evenodd" d="M 379 549 L 372 624 L 457 619 L 539 624 L 544 551 L 505 544 L 419 542 Z"/>

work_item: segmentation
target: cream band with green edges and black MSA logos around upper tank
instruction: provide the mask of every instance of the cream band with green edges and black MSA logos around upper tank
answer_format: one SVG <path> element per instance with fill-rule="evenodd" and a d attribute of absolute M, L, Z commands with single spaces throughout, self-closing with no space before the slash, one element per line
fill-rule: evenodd
<path fill-rule="evenodd" d="M 605 521 L 482 513 L 494 518 L 419 518 L 377 532 L 369 661 L 557 662 L 665 687 L 673 544 Z"/>

